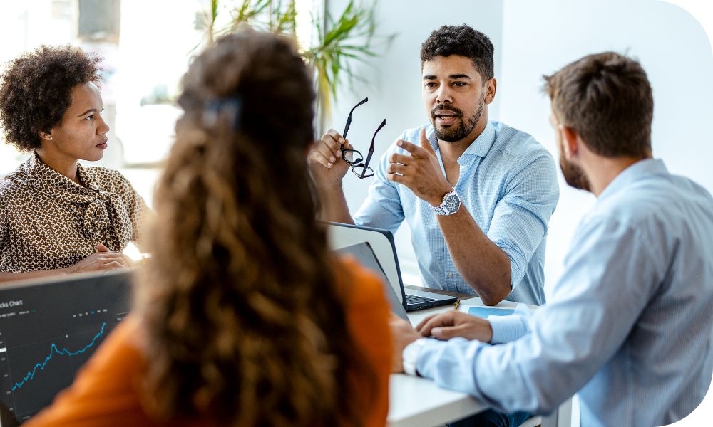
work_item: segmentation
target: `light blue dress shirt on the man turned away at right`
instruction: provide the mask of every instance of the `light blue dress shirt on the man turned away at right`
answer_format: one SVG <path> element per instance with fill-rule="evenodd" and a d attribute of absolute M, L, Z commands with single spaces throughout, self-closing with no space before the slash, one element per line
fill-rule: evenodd
<path fill-rule="evenodd" d="M 713 375 L 713 199 L 642 160 L 583 218 L 548 305 L 491 317 L 501 345 L 429 339 L 419 374 L 501 411 L 553 411 L 579 391 L 583 426 L 687 416 Z"/>

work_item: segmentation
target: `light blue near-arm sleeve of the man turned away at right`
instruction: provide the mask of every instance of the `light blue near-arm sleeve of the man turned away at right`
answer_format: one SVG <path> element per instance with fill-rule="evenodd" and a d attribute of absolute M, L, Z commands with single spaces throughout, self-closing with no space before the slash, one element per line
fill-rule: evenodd
<path fill-rule="evenodd" d="M 501 345 L 430 344 L 419 352 L 419 374 L 504 412 L 547 413 L 580 390 L 620 349 L 648 300 L 647 284 L 660 283 L 662 275 L 635 268 L 652 259 L 647 241 L 615 221 L 596 224 L 575 241 L 555 301 L 533 314 L 528 334 Z M 616 292 L 612 283 L 637 286 Z M 511 317 L 496 322 L 523 318 Z"/>

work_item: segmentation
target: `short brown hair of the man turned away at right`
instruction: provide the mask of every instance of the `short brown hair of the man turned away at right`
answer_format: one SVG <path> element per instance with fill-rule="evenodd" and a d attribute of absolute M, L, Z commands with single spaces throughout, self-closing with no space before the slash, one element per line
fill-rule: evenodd
<path fill-rule="evenodd" d="M 560 124 L 604 157 L 651 156 L 654 97 L 641 64 L 616 52 L 588 55 L 545 75 Z"/>

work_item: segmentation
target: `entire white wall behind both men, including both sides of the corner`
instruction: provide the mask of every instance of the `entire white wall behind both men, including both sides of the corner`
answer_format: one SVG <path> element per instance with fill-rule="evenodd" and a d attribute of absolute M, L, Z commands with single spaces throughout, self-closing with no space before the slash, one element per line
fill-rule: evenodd
<path fill-rule="evenodd" d="M 675 0 L 674 0 L 675 1 Z M 328 1 L 341 11 L 342 0 Z M 542 75 L 553 73 L 588 53 L 614 50 L 637 57 L 649 74 L 655 97 L 653 148 L 669 169 L 685 174 L 713 191 L 713 144 L 706 124 L 713 117 L 713 56 L 702 26 L 678 6 L 657 0 L 501 0 L 452 1 L 436 5 L 425 0 L 377 2 L 379 31 L 397 36 L 383 56 L 358 65 L 368 85 L 344 90 L 334 107 L 332 126 L 340 132 L 349 108 L 362 97 L 369 102 L 356 110 L 349 136 L 366 149 L 381 119 L 388 125 L 376 140 L 375 156 L 406 127 L 427 120 L 420 97 L 421 43 L 443 24 L 468 23 L 488 34 L 496 48 L 498 94 L 490 117 L 534 135 L 557 155 L 548 125 L 549 101 Z M 352 174 L 344 181 L 347 202 L 356 210 L 369 180 Z M 550 221 L 545 260 L 545 285 L 561 273 L 570 236 L 594 197 L 570 189 L 560 178 L 560 204 Z M 404 270 L 417 275 L 409 230 L 399 230 L 397 246 Z"/>

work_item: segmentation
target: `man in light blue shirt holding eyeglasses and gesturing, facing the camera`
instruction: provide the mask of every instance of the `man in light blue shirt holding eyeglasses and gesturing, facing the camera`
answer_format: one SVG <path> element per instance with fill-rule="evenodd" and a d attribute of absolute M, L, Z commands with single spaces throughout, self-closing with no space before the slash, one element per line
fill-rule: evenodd
<path fill-rule="evenodd" d="M 354 218 L 342 191 L 350 166 L 342 150 L 352 146 L 335 130 L 315 144 L 309 162 L 322 218 L 392 232 L 406 220 L 427 286 L 477 294 L 488 305 L 540 305 L 559 196 L 554 161 L 530 135 L 488 121 L 496 80 L 483 33 L 443 26 L 421 46 L 421 64 L 431 122 L 406 130 L 381 157 Z"/>

